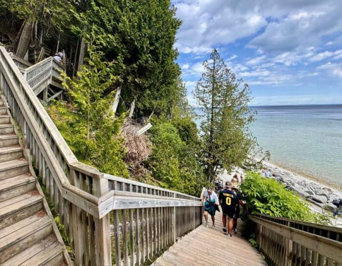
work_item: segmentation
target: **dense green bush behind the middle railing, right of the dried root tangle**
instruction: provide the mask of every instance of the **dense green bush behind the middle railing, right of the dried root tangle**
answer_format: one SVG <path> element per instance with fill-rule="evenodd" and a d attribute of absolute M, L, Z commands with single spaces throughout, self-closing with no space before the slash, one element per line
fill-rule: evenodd
<path fill-rule="evenodd" d="M 147 166 L 158 184 L 198 196 L 206 180 L 195 147 L 182 140 L 171 122 L 162 119 L 154 119 L 150 140 L 153 146 Z"/>

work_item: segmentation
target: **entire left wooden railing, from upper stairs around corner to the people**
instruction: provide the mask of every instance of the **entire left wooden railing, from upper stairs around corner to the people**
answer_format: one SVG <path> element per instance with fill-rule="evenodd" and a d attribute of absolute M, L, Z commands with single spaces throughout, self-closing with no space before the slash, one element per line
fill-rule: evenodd
<path fill-rule="evenodd" d="M 79 162 L 3 46 L 0 88 L 65 226 L 76 265 L 140 265 L 201 223 L 198 198 Z"/>

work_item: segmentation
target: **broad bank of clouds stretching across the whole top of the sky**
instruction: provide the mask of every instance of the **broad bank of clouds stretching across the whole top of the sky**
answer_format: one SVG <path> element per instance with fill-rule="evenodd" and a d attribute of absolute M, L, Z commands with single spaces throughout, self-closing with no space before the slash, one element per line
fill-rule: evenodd
<path fill-rule="evenodd" d="M 174 0 L 183 20 L 176 46 L 205 53 L 262 30 L 248 45 L 282 53 L 321 44 L 342 31 L 340 0 Z M 327 44 L 329 45 L 329 44 Z"/>

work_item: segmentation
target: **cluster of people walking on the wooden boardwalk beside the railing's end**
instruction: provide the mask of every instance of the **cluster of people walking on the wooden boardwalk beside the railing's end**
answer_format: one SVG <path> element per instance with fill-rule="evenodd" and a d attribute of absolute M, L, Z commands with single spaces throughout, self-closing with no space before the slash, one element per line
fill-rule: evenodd
<path fill-rule="evenodd" d="M 237 219 L 240 216 L 240 205 L 245 209 L 245 204 L 242 202 L 239 190 L 238 181 L 233 177 L 232 182 L 226 181 L 225 188 L 219 191 L 218 197 L 212 187 L 208 187 L 202 196 L 204 202 L 204 219 L 205 226 L 208 227 L 208 214 L 212 217 L 213 227 L 215 227 L 215 212 L 222 209 L 223 233 L 232 237 L 232 233 L 236 233 Z"/>

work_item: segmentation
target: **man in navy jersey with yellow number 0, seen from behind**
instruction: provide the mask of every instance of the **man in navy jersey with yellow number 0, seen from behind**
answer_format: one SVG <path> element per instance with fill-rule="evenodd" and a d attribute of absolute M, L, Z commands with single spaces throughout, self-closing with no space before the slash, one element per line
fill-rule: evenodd
<path fill-rule="evenodd" d="M 232 236 L 233 231 L 233 218 L 235 214 L 235 208 L 237 206 L 236 194 L 232 191 L 232 183 L 226 181 L 226 188 L 220 191 L 218 201 L 222 207 L 222 222 L 223 232 L 227 232 L 227 217 L 228 217 L 228 235 Z"/>

